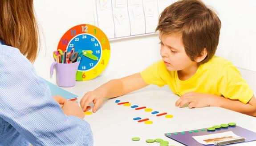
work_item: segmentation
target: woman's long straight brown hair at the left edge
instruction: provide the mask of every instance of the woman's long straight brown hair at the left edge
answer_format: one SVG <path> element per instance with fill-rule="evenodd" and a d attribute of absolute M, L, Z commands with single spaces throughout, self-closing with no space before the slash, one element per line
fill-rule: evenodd
<path fill-rule="evenodd" d="M 33 0 L 0 0 L 0 40 L 34 62 L 38 39 Z"/>

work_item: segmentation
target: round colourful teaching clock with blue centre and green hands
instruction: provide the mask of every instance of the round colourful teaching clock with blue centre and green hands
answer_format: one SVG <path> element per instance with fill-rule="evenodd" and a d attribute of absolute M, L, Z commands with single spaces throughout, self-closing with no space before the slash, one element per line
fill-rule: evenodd
<path fill-rule="evenodd" d="M 62 51 L 78 52 L 81 56 L 76 80 L 86 81 L 100 75 L 110 59 L 110 43 L 99 28 L 81 24 L 70 28 L 61 37 L 58 48 Z"/>

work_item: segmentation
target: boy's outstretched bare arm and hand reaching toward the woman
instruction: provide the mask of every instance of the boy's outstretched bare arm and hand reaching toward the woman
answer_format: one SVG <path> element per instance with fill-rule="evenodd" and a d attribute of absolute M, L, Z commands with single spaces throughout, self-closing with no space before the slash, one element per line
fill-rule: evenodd
<path fill-rule="evenodd" d="M 89 110 L 88 105 L 93 102 L 93 112 L 96 112 L 105 97 L 118 97 L 146 87 L 147 85 L 148 84 L 144 82 L 140 73 L 129 75 L 121 79 L 112 79 L 94 91 L 87 92 L 81 99 L 80 104 L 82 109 L 85 111 Z"/>

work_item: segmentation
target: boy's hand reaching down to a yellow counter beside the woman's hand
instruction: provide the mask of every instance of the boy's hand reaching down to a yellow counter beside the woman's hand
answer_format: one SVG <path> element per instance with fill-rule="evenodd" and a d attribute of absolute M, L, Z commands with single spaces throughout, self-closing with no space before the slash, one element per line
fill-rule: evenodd
<path fill-rule="evenodd" d="M 102 104 L 104 96 L 98 91 L 89 91 L 80 101 L 80 105 L 83 111 L 90 110 L 89 103 L 93 102 L 93 113 L 95 113 Z"/>

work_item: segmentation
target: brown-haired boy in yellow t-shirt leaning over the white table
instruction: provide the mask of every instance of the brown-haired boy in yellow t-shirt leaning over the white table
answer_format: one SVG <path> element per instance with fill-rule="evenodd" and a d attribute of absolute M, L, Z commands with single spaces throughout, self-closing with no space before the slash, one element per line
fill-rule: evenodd
<path fill-rule="evenodd" d="M 141 73 L 113 79 L 81 99 L 83 110 L 93 101 L 93 112 L 103 98 L 124 95 L 149 84 L 168 85 L 180 98 L 175 106 L 217 106 L 256 116 L 256 99 L 240 72 L 226 59 L 214 56 L 221 22 L 199 0 L 180 0 L 161 13 L 156 31 L 162 60 Z"/>

